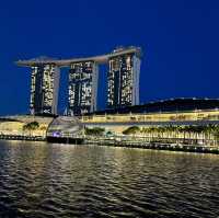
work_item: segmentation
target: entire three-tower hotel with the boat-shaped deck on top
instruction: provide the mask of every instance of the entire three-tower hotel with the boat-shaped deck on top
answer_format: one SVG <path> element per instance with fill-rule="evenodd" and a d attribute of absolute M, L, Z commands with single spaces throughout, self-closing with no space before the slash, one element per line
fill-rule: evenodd
<path fill-rule="evenodd" d="M 57 114 L 60 68 L 69 68 L 68 115 L 96 111 L 99 66 L 107 65 L 107 108 L 139 104 L 141 49 L 117 48 L 110 54 L 72 59 L 45 57 L 19 60 L 32 69 L 31 114 Z"/>

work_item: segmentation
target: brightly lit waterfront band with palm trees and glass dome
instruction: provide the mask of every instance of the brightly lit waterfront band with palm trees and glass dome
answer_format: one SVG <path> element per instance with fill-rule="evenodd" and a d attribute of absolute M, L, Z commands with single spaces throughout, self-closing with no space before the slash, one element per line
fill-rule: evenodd
<path fill-rule="evenodd" d="M 123 133 L 113 133 L 107 127 L 81 124 L 74 117 L 60 116 L 53 119 L 12 116 L 2 119 L 0 139 L 219 153 L 217 124 L 197 125 L 199 124 L 197 122 L 196 125 L 185 126 L 185 122 L 183 124 L 141 126 L 129 123 L 129 127 L 123 124 Z M 32 128 L 27 129 L 27 125 Z M 116 129 L 116 125 L 118 126 L 115 123 L 112 125 L 113 129 Z"/>

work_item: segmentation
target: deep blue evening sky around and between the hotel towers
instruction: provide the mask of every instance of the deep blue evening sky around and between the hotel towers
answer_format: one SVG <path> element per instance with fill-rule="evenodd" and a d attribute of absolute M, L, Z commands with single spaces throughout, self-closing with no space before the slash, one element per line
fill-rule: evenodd
<path fill-rule="evenodd" d="M 218 0 L 22 0 L 0 5 L 0 115 L 28 112 L 30 69 L 37 56 L 85 57 L 141 46 L 140 102 L 219 97 Z M 101 67 L 99 108 L 105 105 Z M 67 101 L 61 71 L 59 111 Z"/>

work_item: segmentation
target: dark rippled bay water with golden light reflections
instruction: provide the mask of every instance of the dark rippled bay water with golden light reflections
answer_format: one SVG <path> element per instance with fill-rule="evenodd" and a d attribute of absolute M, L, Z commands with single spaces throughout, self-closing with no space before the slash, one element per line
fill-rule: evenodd
<path fill-rule="evenodd" d="M 218 217 L 219 156 L 0 141 L 0 217 Z"/>

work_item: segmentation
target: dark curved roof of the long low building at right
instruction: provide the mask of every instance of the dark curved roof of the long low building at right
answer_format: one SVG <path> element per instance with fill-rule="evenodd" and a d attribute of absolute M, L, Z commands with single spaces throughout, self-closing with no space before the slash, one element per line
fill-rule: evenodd
<path fill-rule="evenodd" d="M 126 114 L 126 113 L 160 113 L 183 112 L 195 110 L 219 110 L 219 99 L 178 97 L 149 102 L 141 105 L 126 106 L 123 108 L 105 110 L 95 112 L 102 114 Z M 90 114 L 88 114 L 90 115 Z"/>

